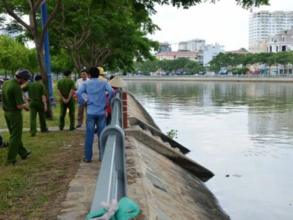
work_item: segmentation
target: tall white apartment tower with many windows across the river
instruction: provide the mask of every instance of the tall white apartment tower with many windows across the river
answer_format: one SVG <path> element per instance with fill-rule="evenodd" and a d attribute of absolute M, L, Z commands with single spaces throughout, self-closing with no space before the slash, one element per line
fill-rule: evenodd
<path fill-rule="evenodd" d="M 258 11 L 249 19 L 249 52 L 265 52 L 264 41 L 282 30 L 293 29 L 293 11 Z"/>

